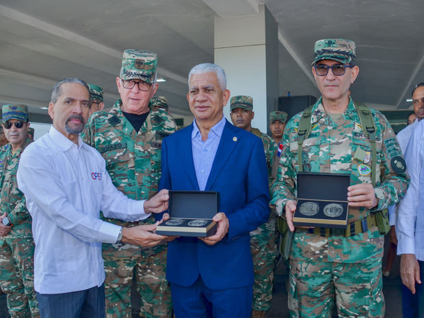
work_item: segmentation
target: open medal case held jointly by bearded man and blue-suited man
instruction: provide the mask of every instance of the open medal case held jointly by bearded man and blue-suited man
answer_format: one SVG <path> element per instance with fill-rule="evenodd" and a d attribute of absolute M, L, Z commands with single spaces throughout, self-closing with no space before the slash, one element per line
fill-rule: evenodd
<path fill-rule="evenodd" d="M 170 219 L 159 224 L 156 233 L 181 237 L 209 237 L 216 233 L 212 220 L 219 211 L 220 194 L 216 191 L 169 191 Z"/>

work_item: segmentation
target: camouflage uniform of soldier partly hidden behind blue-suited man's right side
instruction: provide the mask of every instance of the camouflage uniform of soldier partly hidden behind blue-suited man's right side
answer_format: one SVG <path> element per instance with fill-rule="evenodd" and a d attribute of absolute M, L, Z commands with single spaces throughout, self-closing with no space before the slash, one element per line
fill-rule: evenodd
<path fill-rule="evenodd" d="M 254 135 L 261 138 L 267 159 L 268 176 L 271 180 L 272 160 L 277 144 L 271 137 L 252 128 Z M 250 252 L 253 258 L 253 302 L 252 310 L 267 311 L 271 308 L 274 265 L 278 255 L 279 233 L 276 230 L 276 213 L 272 209 L 269 220 L 250 232 Z"/>

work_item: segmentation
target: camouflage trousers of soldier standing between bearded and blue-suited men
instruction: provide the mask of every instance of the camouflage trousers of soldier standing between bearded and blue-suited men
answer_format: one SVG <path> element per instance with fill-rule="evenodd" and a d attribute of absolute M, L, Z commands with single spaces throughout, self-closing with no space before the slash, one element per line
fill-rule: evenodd
<path fill-rule="evenodd" d="M 139 251 L 133 256 L 117 256 L 103 250 L 107 318 L 131 318 L 133 276 L 141 295 L 140 316 L 156 318 L 172 315 L 171 292 L 165 279 L 168 249 L 157 253 L 152 248 L 140 248 Z"/>

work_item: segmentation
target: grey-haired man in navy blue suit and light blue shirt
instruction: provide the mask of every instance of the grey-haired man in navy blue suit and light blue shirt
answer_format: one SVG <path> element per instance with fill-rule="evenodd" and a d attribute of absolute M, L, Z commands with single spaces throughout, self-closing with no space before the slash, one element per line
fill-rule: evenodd
<path fill-rule="evenodd" d="M 224 118 L 229 97 L 220 66 L 194 66 L 187 93 L 194 122 L 162 143 L 159 189 L 220 192 L 216 234 L 169 243 L 166 278 L 176 318 L 250 317 L 249 233 L 268 220 L 267 164 L 259 137 Z"/>

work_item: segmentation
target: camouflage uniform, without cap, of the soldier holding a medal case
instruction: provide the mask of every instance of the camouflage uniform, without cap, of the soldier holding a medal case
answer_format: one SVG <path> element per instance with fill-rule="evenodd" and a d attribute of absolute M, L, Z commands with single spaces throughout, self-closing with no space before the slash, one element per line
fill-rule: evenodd
<path fill-rule="evenodd" d="M 406 172 L 396 173 L 391 159 L 401 156 L 395 133 L 380 112 L 371 109 L 376 127 L 377 163 L 373 211 L 399 201 L 408 187 Z M 289 120 L 282 142 L 277 179 L 271 187 L 279 215 L 287 200 L 295 200 L 297 127 L 301 114 Z M 360 127 L 352 98 L 339 120 L 324 111 L 321 98 L 313 106 L 310 135 L 303 143 L 304 171 L 350 173 L 351 185 L 371 183 L 369 139 Z M 398 171 L 399 172 L 399 171 Z M 370 210 L 349 207 L 349 220 L 369 216 Z M 297 228 L 290 256 L 289 310 L 291 317 L 330 317 L 334 293 L 339 317 L 383 317 L 382 254 L 384 237 L 376 226 L 352 237 L 321 237 Z M 356 284 L 351 285 L 352 281 Z"/>

